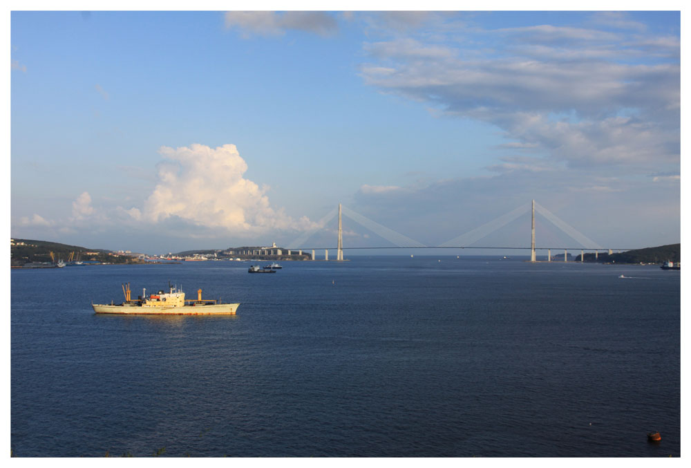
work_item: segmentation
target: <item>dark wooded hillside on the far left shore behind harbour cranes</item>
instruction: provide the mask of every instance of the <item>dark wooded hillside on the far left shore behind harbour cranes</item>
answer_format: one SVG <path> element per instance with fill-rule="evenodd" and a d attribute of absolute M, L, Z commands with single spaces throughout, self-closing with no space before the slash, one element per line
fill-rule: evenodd
<path fill-rule="evenodd" d="M 10 245 L 12 266 L 21 266 L 32 262 L 67 261 L 70 254 L 73 259 L 83 261 L 97 261 L 101 263 L 130 263 L 131 256 L 118 256 L 111 250 L 91 249 L 79 245 L 61 244 L 58 242 L 37 241 L 34 239 L 13 238 L 14 245 Z M 53 252 L 53 258 L 50 256 Z"/>

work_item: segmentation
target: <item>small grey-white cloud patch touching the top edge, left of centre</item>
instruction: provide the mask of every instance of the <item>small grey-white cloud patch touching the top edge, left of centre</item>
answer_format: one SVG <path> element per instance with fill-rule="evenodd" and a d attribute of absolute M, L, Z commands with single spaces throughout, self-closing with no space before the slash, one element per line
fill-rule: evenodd
<path fill-rule="evenodd" d="M 326 12 L 230 11 L 225 14 L 225 27 L 238 28 L 244 37 L 284 35 L 287 30 L 328 36 L 337 32 L 338 23 Z"/>

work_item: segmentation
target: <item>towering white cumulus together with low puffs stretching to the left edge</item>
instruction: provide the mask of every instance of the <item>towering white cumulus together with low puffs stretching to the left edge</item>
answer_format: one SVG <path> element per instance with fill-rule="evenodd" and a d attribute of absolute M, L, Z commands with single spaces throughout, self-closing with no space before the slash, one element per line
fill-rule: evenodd
<path fill-rule="evenodd" d="M 39 214 L 12 221 L 21 236 L 75 234 L 114 238 L 157 232 L 161 238 L 203 241 L 256 240 L 258 236 L 294 235 L 315 224 L 306 216 L 294 219 L 269 203 L 268 187 L 245 178 L 247 162 L 234 144 L 211 148 L 203 144 L 160 148 L 158 183 L 142 203 L 123 207 L 124 199 L 100 197 L 96 206 L 88 191 L 72 202 L 71 216 L 49 221 Z M 127 197 L 129 198 L 129 197 Z M 116 234 L 117 233 L 117 234 Z M 277 238 L 277 239 L 278 239 Z"/>

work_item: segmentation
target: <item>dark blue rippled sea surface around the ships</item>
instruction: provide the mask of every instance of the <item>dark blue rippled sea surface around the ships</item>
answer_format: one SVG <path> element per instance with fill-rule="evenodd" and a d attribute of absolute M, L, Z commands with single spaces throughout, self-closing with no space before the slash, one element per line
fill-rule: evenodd
<path fill-rule="evenodd" d="M 680 454 L 678 271 L 464 256 L 248 266 L 12 270 L 13 453 Z M 241 305 L 94 315 L 127 281 L 133 297 L 171 281 Z"/>

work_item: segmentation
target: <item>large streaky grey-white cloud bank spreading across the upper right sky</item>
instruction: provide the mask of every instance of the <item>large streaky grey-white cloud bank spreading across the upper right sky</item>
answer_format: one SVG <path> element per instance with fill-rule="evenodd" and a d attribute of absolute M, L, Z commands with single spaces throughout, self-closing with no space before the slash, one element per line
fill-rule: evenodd
<path fill-rule="evenodd" d="M 396 37 L 365 44 L 360 71 L 385 93 L 493 124 L 515 151 L 569 167 L 679 165 L 678 40 L 619 26 L 634 32 L 537 25 Z M 651 50 L 668 59 L 651 62 Z"/>

